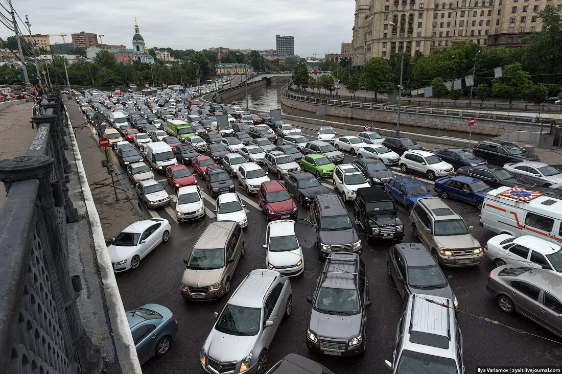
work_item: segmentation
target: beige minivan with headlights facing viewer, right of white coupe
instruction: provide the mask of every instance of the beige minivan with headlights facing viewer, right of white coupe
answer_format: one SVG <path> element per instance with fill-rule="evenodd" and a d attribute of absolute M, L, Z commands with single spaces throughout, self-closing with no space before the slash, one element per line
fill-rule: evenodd
<path fill-rule="evenodd" d="M 228 294 L 244 256 L 244 232 L 238 222 L 212 222 L 197 239 L 185 263 L 180 289 L 184 299 L 211 300 Z"/>

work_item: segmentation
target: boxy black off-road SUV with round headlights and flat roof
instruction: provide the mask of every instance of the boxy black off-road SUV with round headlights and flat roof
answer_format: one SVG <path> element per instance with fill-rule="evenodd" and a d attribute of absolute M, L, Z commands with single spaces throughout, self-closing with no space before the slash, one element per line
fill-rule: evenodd
<path fill-rule="evenodd" d="M 375 237 L 404 237 L 404 224 L 398 218 L 394 200 L 382 188 L 359 188 L 353 202 L 353 217 L 365 230 L 367 242 L 373 242 Z"/>

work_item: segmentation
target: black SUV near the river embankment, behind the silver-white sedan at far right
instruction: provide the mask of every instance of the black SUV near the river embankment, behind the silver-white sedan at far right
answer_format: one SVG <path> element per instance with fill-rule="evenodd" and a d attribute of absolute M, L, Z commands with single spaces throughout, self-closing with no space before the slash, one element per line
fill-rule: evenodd
<path fill-rule="evenodd" d="M 521 161 L 540 161 L 538 156 L 510 142 L 484 140 L 472 148 L 472 153 L 488 161 L 488 164 L 504 166 Z"/>

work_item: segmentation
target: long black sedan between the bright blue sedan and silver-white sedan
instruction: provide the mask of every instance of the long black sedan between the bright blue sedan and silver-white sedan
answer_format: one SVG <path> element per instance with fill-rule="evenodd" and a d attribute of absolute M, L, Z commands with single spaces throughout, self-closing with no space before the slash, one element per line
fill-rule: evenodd
<path fill-rule="evenodd" d="M 481 179 L 492 188 L 517 186 L 525 188 L 525 190 L 533 190 L 537 187 L 536 183 L 518 177 L 501 166 L 495 165 L 463 166 L 457 169 L 456 174 Z"/>

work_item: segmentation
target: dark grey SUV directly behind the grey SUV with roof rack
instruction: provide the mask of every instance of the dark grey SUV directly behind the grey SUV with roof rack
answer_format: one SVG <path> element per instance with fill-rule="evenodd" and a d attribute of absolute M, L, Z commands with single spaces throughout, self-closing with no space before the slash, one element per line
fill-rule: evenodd
<path fill-rule="evenodd" d="M 361 254 L 361 239 L 343 201 L 335 193 L 318 195 L 312 200 L 310 221 L 316 228 L 316 246 L 321 260 L 332 252 Z"/>

